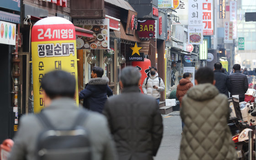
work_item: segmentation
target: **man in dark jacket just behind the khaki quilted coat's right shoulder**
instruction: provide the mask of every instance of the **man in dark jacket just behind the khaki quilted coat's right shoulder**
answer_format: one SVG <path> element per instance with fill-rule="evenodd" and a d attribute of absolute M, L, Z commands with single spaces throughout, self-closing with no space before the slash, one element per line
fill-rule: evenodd
<path fill-rule="evenodd" d="M 229 97 L 230 91 L 230 79 L 229 76 L 224 74 L 222 71 L 222 64 L 217 62 L 214 64 L 214 79 L 216 80 L 215 87 L 219 90 L 219 93 L 223 93 Z"/>

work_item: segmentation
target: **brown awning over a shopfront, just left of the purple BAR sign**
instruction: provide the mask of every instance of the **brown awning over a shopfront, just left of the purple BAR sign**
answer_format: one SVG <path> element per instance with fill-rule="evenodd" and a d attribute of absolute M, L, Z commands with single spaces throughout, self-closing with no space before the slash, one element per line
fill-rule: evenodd
<path fill-rule="evenodd" d="M 137 32 L 135 32 L 134 36 L 126 34 L 123 23 L 121 21 L 119 21 L 119 24 L 120 24 L 120 31 L 114 31 L 115 34 L 110 34 L 110 37 L 118 38 L 121 35 L 121 40 L 123 40 L 123 41 L 130 41 L 130 42 L 134 42 L 134 43 L 135 42 L 137 42 L 137 43 L 141 42 Z"/>

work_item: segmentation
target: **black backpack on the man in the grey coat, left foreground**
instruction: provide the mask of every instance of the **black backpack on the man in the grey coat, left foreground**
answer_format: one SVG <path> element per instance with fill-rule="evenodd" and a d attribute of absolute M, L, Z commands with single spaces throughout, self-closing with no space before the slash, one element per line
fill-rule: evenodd
<path fill-rule="evenodd" d="M 37 114 L 45 130 L 37 139 L 37 160 L 91 160 L 89 134 L 83 127 L 86 112 L 80 112 L 71 128 L 55 129 L 44 113 Z"/>

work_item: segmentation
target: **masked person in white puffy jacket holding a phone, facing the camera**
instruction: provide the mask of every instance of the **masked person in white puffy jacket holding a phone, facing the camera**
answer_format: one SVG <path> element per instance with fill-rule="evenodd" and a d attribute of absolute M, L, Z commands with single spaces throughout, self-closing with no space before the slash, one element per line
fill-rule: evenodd
<path fill-rule="evenodd" d="M 161 97 L 160 92 L 165 91 L 165 84 L 164 81 L 158 77 L 155 67 L 150 67 L 150 75 L 144 80 L 142 91 L 145 95 L 153 96 L 159 104 Z"/>

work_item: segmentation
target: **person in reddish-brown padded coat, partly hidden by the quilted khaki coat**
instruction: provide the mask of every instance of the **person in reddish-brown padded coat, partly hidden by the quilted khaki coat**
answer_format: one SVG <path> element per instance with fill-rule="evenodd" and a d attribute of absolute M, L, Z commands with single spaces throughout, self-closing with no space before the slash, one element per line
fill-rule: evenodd
<path fill-rule="evenodd" d="M 181 107 L 182 98 L 187 94 L 187 91 L 191 87 L 193 87 L 191 80 L 192 80 L 192 74 L 189 72 L 184 73 L 183 78 L 180 80 L 180 84 L 177 86 L 176 96 L 180 101 L 180 107 Z M 184 123 L 183 122 L 181 122 L 181 123 L 182 123 L 181 127 L 183 130 Z"/>

